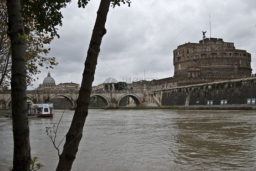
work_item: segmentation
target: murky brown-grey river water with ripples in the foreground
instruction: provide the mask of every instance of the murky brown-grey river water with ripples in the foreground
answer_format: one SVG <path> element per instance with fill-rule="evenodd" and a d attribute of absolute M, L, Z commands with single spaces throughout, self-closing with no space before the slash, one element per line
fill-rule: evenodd
<path fill-rule="evenodd" d="M 53 118 L 29 119 L 31 156 L 54 171 Z M 65 111 L 60 142 L 74 111 Z M 60 148 L 62 148 L 61 144 Z M 12 120 L 0 117 L 0 170 L 12 166 Z M 256 111 L 89 110 L 72 171 L 255 171 Z"/>

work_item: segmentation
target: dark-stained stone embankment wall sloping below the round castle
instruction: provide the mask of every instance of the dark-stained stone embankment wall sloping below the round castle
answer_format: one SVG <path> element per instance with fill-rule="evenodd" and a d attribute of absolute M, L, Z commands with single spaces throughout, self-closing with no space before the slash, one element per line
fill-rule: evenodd
<path fill-rule="evenodd" d="M 247 99 L 256 98 L 256 77 L 183 86 L 156 93 L 161 93 L 161 106 L 192 106 L 198 101 L 199 105 L 207 105 L 207 101 L 220 105 L 221 100 L 227 100 L 228 105 L 247 104 Z"/>

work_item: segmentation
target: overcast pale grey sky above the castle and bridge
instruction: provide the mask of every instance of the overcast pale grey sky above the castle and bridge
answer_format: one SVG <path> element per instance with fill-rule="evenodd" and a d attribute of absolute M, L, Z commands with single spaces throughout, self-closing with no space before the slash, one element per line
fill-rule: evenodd
<path fill-rule="evenodd" d="M 60 38 L 46 45 L 51 48 L 47 56 L 56 57 L 59 65 L 41 68 L 39 79 L 28 89 L 36 89 L 49 71 L 56 85 L 81 85 L 99 4 L 100 0 L 90 0 L 83 9 L 73 0 L 61 10 Z M 173 50 L 199 43 L 202 31 L 207 31 L 207 38 L 222 38 L 251 53 L 252 74 L 256 73 L 255 0 L 132 0 L 130 7 L 110 7 L 105 28 L 92 85 L 109 77 L 128 83 L 171 77 Z"/>

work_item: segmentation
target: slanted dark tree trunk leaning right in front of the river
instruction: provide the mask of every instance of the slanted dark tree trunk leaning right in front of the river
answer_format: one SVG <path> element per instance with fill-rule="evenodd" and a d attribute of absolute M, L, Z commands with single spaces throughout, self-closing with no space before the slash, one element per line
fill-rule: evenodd
<path fill-rule="evenodd" d="M 60 155 L 60 160 L 56 171 L 70 171 L 72 163 L 76 158 L 78 146 L 82 138 L 83 126 L 88 114 L 88 105 L 92 90 L 92 82 L 97 65 L 97 57 L 103 35 L 106 34 L 105 23 L 107 20 L 108 9 L 111 0 L 101 0 L 97 11 L 96 22 L 92 31 L 92 38 L 87 51 L 85 68 L 83 71 L 82 84 L 77 99 L 77 107 L 69 131 L 67 132 L 66 142 Z"/>

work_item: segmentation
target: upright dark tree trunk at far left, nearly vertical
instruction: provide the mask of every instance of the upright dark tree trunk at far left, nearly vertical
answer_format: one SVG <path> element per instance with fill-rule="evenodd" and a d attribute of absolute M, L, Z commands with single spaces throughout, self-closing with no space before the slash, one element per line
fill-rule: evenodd
<path fill-rule="evenodd" d="M 11 41 L 11 100 L 13 125 L 13 171 L 30 171 L 30 141 L 26 106 L 26 40 L 20 0 L 7 0 L 8 35 Z"/>

